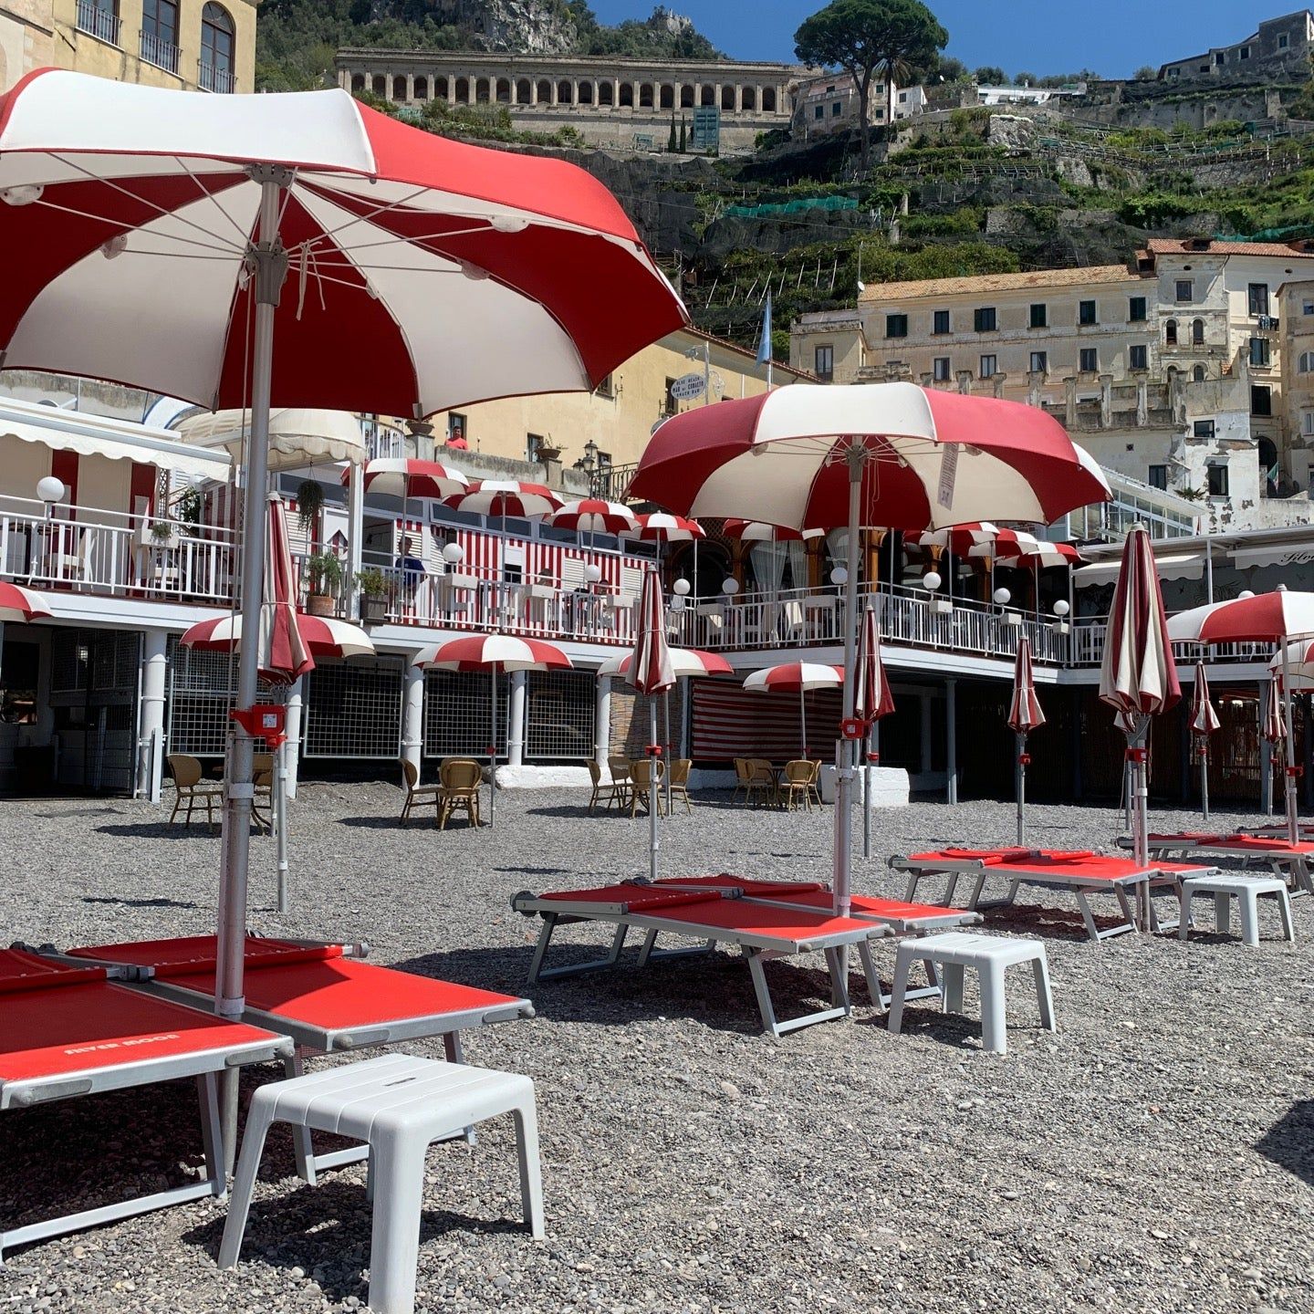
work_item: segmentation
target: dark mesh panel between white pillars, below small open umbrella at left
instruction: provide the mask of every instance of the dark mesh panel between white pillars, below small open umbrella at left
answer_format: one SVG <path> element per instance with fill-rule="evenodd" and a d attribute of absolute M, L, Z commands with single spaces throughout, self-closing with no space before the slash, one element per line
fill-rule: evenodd
<path fill-rule="evenodd" d="M 305 756 L 401 757 L 403 683 L 401 658 L 317 662 L 306 678 Z"/>

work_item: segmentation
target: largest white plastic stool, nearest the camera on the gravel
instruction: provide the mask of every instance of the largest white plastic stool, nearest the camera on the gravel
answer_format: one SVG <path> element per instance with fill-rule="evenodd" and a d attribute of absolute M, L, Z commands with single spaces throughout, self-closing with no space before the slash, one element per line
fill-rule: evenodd
<path fill-rule="evenodd" d="M 533 1083 L 527 1076 L 386 1054 L 261 1085 L 247 1114 L 233 1202 L 219 1244 L 219 1268 L 233 1268 L 238 1261 L 271 1123 L 290 1122 L 331 1131 L 369 1144 L 374 1201 L 369 1307 L 377 1314 L 411 1314 L 424 1151 L 431 1142 L 499 1113 L 515 1114 L 520 1200 L 530 1231 L 541 1239 L 539 1123 Z"/>

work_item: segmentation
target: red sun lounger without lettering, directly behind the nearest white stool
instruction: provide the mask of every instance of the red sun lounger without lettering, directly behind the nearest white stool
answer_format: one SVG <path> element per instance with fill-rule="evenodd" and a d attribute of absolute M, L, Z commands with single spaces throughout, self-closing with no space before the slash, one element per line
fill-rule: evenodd
<path fill-rule="evenodd" d="M 214 936 L 89 945 L 70 950 L 68 958 L 137 968 L 141 988 L 152 995 L 214 1007 Z M 363 962 L 346 945 L 251 936 L 244 989 L 243 1021 L 296 1042 L 286 1064 L 294 1076 L 301 1075 L 306 1053 L 332 1054 L 435 1035 L 443 1037 L 448 1060 L 461 1063 L 461 1031 L 533 1017 L 527 999 L 380 967 Z M 317 1168 L 364 1156 L 363 1148 L 353 1147 L 311 1158 L 309 1138 L 298 1144 L 302 1175 L 311 1183 Z"/>

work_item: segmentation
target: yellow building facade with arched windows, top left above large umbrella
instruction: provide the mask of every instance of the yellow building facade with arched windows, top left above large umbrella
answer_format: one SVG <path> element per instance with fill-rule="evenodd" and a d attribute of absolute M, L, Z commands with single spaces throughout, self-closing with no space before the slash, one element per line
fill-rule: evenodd
<path fill-rule="evenodd" d="M 256 0 L 46 0 L 60 68 L 179 91 L 255 91 Z"/>

